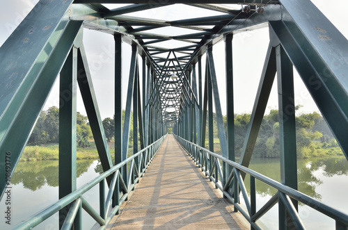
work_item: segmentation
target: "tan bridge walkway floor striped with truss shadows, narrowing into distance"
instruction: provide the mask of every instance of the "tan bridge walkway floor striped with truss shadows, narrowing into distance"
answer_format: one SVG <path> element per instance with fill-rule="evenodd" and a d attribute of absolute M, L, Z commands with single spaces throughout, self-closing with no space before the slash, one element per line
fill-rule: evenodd
<path fill-rule="evenodd" d="M 168 135 L 138 187 L 109 229 L 248 229 Z"/>

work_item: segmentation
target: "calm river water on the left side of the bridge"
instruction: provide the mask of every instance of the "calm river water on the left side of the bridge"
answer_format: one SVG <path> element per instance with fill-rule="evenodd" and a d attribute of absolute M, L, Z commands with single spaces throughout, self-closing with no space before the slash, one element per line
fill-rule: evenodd
<path fill-rule="evenodd" d="M 77 188 L 99 175 L 101 169 L 98 161 L 77 161 Z M 11 229 L 58 200 L 58 161 L 19 162 L 11 179 L 11 186 L 11 225 L 6 224 L 3 221 L 4 217 L 1 217 L 0 229 Z M 99 211 L 99 186 L 88 191 L 84 198 L 96 211 Z M 3 200 L 0 203 L 0 210 L 1 213 L 6 210 Z M 93 218 L 85 211 L 82 218 L 84 229 L 90 229 L 90 226 L 95 224 Z M 58 229 L 58 213 L 34 229 Z"/>

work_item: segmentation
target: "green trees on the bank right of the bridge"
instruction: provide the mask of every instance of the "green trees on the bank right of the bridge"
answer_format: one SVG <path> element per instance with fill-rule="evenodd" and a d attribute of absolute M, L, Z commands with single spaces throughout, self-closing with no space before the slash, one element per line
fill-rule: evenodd
<path fill-rule="evenodd" d="M 242 153 L 250 119 L 251 114 L 235 114 L 235 153 L 237 156 Z M 226 117 L 224 117 L 224 123 L 226 129 Z M 214 134 L 217 137 L 217 129 Z M 296 116 L 296 151 L 299 158 L 343 155 L 324 118 L 316 112 L 301 113 Z M 280 156 L 278 110 L 271 110 L 268 115 L 264 115 L 253 156 L 261 158 Z"/>

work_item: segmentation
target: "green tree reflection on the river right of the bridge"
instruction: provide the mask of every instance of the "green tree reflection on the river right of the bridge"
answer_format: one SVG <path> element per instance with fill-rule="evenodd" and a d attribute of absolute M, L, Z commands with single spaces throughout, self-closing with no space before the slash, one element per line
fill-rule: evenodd
<path fill-rule="evenodd" d="M 271 179 L 280 181 L 279 159 L 253 158 L 250 168 Z M 322 174 L 315 174 L 318 170 L 322 170 Z M 297 161 L 299 191 L 315 199 L 322 199 L 322 195 L 315 190 L 317 186 L 323 183 L 322 179 L 335 175 L 348 175 L 348 161 L 345 157 L 306 158 Z M 249 184 L 250 182 L 247 176 L 247 188 Z M 271 188 L 261 181 L 256 182 L 256 189 L 258 195 L 261 197 L 273 196 L 277 192 L 276 189 Z"/>

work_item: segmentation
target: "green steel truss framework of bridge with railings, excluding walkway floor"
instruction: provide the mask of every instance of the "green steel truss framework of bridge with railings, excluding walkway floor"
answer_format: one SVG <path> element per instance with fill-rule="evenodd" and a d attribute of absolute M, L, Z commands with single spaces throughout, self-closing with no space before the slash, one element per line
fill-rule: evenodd
<path fill-rule="evenodd" d="M 102 3 L 129 3 L 107 8 Z M 217 16 L 165 21 L 127 15 L 183 3 L 219 12 Z M 235 162 L 232 39 L 235 33 L 268 25 L 269 47 L 260 73 L 255 104 L 242 157 Z M 111 161 L 102 119 L 84 49 L 84 28 L 108 33 L 115 40 L 115 162 Z M 152 33 L 157 28 L 185 28 L 187 34 Z M 187 45 L 168 48 L 165 41 Z M 220 102 L 212 47 L 225 43 L 227 104 Z M 122 76 L 122 47 L 132 46 L 129 77 Z M 157 44 L 158 43 L 158 44 Z M 156 45 L 157 44 L 157 45 Z M 202 60 L 205 55 L 206 60 Z M 128 60 L 127 60 L 128 61 Z M 139 68 L 142 62 L 142 69 Z M 205 61 L 205 69 L 202 62 Z M 339 63 L 339 65 L 336 65 Z M 119 211 L 173 127 L 175 138 L 193 161 L 223 191 L 252 229 L 272 206 L 279 206 L 279 228 L 303 229 L 297 213 L 302 202 L 332 217 L 336 229 L 347 229 L 348 215 L 303 195 L 297 189 L 294 115 L 295 67 L 329 124 L 345 156 L 348 155 L 348 42 L 309 0 L 40 0 L 0 48 L 0 181 L 1 196 L 13 174 L 33 126 L 57 76 L 64 97 L 59 114 L 60 200 L 18 229 L 29 229 L 56 212 L 60 227 L 81 228 L 81 208 L 101 229 Z M 142 84 L 140 84 L 142 77 Z M 281 183 L 248 169 L 267 106 L 271 86 L 278 79 Z M 203 85 L 203 78 L 205 78 Z M 122 89 L 122 81 L 128 87 Z M 81 92 L 104 174 L 76 188 L 76 95 Z M 122 90 L 127 91 L 122 126 Z M 225 90 L 225 89 L 220 89 Z M 214 102 L 214 108 L 213 108 Z M 227 106 L 227 131 L 221 107 Z M 222 156 L 214 154 L 212 111 L 216 112 Z M 131 111 L 134 121 L 134 155 L 127 158 Z M 208 118 L 208 119 L 207 119 Z M 208 120 L 209 129 L 206 130 Z M 209 146 L 205 148 L 205 133 Z M 140 138 L 138 139 L 138 133 Z M 140 151 L 139 151 L 140 150 Z M 6 156 L 10 156 L 8 167 Z M 128 167 L 127 167 L 128 165 Z M 244 186 L 251 176 L 251 195 Z M 255 180 L 278 190 L 259 210 L 255 207 Z M 104 183 L 108 195 L 104 196 Z M 84 199 L 84 192 L 100 184 L 100 211 Z M 239 203 L 243 194 L 245 206 Z M 250 197 L 250 199 L 249 199 Z"/>

